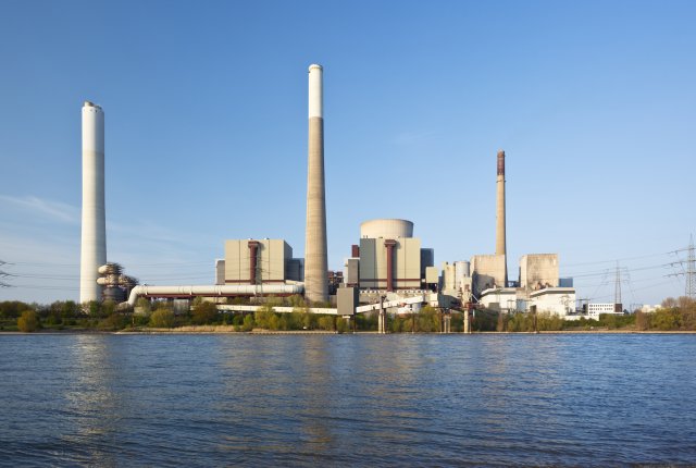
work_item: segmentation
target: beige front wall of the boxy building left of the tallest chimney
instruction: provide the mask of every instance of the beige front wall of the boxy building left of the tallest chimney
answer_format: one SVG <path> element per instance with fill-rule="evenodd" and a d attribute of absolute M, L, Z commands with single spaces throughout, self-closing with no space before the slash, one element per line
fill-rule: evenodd
<path fill-rule="evenodd" d="M 293 247 L 283 239 L 254 239 L 259 243 L 257 275 L 261 282 L 285 282 L 286 264 Z M 249 239 L 225 241 L 225 283 L 249 284 Z"/>

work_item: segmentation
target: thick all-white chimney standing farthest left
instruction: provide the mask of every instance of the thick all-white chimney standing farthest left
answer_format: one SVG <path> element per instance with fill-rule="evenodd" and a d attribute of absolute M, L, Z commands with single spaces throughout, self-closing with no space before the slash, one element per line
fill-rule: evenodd
<path fill-rule="evenodd" d="M 83 232 L 79 261 L 79 301 L 100 300 L 97 269 L 107 263 L 104 112 L 89 101 L 83 106 Z"/>

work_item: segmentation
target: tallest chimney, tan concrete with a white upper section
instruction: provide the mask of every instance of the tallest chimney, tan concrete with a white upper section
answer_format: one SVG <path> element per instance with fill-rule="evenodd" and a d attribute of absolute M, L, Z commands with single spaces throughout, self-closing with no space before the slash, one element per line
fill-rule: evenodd
<path fill-rule="evenodd" d="M 321 65 L 309 66 L 309 158 L 307 168 L 307 231 L 304 233 L 304 297 L 310 301 L 328 300 L 322 74 Z"/>

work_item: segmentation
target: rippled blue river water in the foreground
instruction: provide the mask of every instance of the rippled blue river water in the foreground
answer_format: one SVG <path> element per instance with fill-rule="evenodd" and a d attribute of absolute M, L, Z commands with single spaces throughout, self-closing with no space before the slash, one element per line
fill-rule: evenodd
<path fill-rule="evenodd" d="M 0 335 L 9 466 L 696 464 L 696 335 Z"/>

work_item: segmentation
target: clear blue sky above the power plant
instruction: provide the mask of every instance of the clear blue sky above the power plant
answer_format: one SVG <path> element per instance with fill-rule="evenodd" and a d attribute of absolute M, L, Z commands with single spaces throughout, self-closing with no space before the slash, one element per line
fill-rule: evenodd
<path fill-rule="evenodd" d="M 558 253 L 579 297 L 684 294 L 696 2 L 0 3 L 0 300 L 76 299 L 80 108 L 104 109 L 108 257 L 210 284 L 226 238 L 304 250 L 307 67 L 324 66 L 330 268 L 405 218 L 436 262 Z"/>

